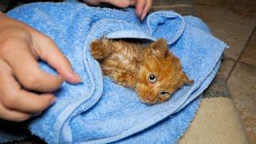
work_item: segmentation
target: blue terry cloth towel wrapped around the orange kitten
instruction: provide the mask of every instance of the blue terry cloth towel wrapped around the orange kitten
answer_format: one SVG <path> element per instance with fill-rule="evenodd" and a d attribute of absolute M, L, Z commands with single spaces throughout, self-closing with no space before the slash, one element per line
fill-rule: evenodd
<path fill-rule="evenodd" d="M 172 11 L 155 12 L 140 22 L 133 9 L 48 2 L 20 6 L 8 15 L 52 38 L 82 77 L 79 85 L 64 82 L 54 106 L 30 123 L 30 131 L 49 143 L 178 142 L 227 47 L 200 19 Z M 194 85 L 183 86 L 168 102 L 146 106 L 133 90 L 102 76 L 90 54 L 95 38 L 166 38 Z M 55 74 L 46 63 L 40 66 Z"/>

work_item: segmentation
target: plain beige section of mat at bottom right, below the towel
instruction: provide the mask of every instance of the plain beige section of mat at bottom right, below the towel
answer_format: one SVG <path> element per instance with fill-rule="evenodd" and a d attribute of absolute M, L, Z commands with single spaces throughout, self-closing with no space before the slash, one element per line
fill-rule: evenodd
<path fill-rule="evenodd" d="M 202 98 L 201 106 L 180 144 L 249 143 L 230 98 Z"/>

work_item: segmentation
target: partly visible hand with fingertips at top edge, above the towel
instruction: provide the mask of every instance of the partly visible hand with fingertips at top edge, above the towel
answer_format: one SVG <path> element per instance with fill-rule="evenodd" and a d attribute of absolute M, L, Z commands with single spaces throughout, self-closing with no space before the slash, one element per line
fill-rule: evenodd
<path fill-rule="evenodd" d="M 134 6 L 136 14 L 141 20 L 144 20 L 152 5 L 152 0 L 83 0 L 83 2 L 93 6 L 98 6 L 102 2 L 121 8 Z"/>

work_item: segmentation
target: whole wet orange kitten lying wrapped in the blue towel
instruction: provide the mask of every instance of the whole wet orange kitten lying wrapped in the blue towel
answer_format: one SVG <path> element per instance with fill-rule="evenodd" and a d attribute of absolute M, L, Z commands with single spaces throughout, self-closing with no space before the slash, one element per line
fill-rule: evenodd
<path fill-rule="evenodd" d="M 142 102 L 165 102 L 184 84 L 193 84 L 182 71 L 179 59 L 167 49 L 164 39 L 148 46 L 98 39 L 90 44 L 90 51 L 100 62 L 104 75 L 136 90 Z M 156 82 L 149 81 L 150 74 L 156 76 Z M 167 94 L 163 96 L 160 92 Z"/>

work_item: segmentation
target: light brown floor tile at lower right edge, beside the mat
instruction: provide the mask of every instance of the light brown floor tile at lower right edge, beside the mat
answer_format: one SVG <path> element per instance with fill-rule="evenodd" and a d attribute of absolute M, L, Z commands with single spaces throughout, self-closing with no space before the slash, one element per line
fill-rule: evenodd
<path fill-rule="evenodd" d="M 242 116 L 246 134 L 256 143 L 256 68 L 238 62 L 228 79 L 234 103 Z"/>

